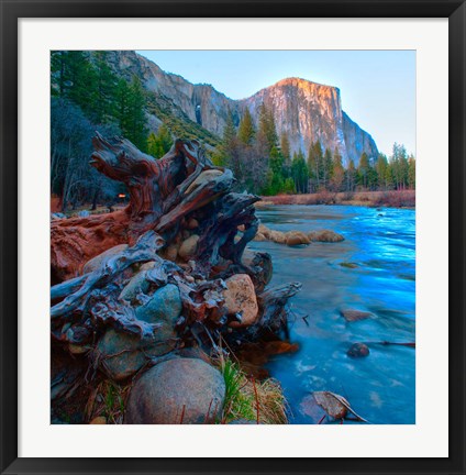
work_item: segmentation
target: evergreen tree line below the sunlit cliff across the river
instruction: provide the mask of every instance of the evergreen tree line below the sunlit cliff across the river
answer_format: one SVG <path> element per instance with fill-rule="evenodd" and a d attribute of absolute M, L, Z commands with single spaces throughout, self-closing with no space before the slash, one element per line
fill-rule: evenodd
<path fill-rule="evenodd" d="M 277 134 L 273 111 L 265 104 L 257 128 L 247 108 L 237 126 L 229 114 L 214 162 L 232 168 L 238 188 L 265 196 L 415 188 L 415 158 L 403 145 L 395 143 L 389 157 L 379 154 L 374 159 L 364 152 L 357 166 L 353 159 L 344 166 L 340 151 L 323 150 L 319 141 L 307 154 L 291 154 L 287 133 Z"/>

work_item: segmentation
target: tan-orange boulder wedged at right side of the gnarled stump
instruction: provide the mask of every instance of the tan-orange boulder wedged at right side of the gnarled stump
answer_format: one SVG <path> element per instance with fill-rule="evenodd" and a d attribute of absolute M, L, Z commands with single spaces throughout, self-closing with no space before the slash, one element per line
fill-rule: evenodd
<path fill-rule="evenodd" d="M 225 280 L 223 291 L 226 312 L 230 316 L 242 314 L 241 322 L 232 321 L 231 327 L 248 327 L 256 322 L 258 305 L 254 284 L 247 274 L 236 274 Z"/>

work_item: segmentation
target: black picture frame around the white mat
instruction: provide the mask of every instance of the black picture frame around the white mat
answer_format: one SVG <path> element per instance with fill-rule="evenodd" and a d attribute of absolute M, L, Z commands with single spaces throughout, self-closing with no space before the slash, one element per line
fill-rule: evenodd
<path fill-rule="evenodd" d="M 464 474 L 466 5 L 453 0 L 9 1 L 1 12 L 1 474 Z M 18 457 L 18 20 L 20 18 L 448 18 L 450 456 L 446 459 Z M 446 210 L 445 210 L 446 212 Z M 442 316 L 439 316 L 439 318 Z M 446 316 L 444 316 L 446 317 Z M 444 415 L 442 413 L 442 417 Z M 280 442 L 277 442 L 278 444 Z"/>

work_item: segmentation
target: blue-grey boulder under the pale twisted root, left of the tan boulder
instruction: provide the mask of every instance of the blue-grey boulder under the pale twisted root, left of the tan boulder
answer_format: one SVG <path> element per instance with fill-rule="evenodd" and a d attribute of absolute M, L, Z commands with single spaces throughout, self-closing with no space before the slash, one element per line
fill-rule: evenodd
<path fill-rule="evenodd" d="M 136 318 L 148 323 L 167 323 L 169 328 L 174 328 L 181 310 L 178 287 L 168 284 L 157 289 L 144 305 L 136 308 Z"/>

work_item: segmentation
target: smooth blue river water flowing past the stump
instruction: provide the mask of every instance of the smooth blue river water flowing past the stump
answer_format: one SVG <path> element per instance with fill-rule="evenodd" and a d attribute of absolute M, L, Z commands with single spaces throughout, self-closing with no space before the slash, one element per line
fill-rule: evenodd
<path fill-rule="evenodd" d="M 341 243 L 298 247 L 249 244 L 271 254 L 271 285 L 302 283 L 292 299 L 290 322 L 290 340 L 300 350 L 268 364 L 290 404 L 290 422 L 317 423 L 304 409 L 306 400 L 312 391 L 330 390 L 344 396 L 371 423 L 415 423 L 415 350 L 370 343 L 415 341 L 415 212 L 275 206 L 258 216 L 279 231 L 330 229 L 345 236 Z M 343 262 L 357 267 L 342 267 Z M 339 312 L 344 308 L 375 317 L 350 323 Z M 368 342 L 368 357 L 346 355 L 356 342 Z"/>

